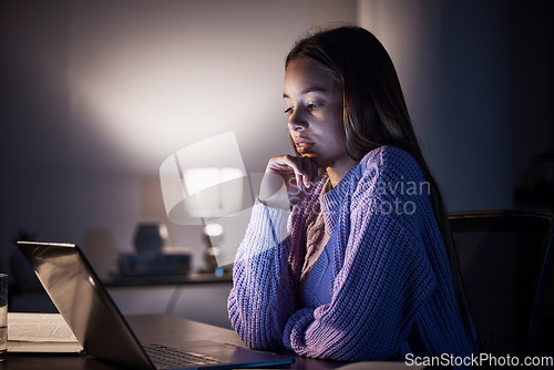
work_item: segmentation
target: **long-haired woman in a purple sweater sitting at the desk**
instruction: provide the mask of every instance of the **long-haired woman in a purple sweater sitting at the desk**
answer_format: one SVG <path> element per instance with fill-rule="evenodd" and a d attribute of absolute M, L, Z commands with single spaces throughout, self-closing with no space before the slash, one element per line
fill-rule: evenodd
<path fill-rule="evenodd" d="M 444 207 L 384 48 L 337 28 L 300 40 L 285 69 L 296 154 L 267 165 L 233 327 L 252 348 L 322 359 L 471 356 Z"/>

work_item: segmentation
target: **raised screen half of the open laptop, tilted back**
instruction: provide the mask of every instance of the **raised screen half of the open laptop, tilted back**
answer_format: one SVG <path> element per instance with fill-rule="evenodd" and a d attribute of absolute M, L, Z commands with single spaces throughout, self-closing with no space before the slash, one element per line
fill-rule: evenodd
<path fill-rule="evenodd" d="M 135 369 L 154 369 L 74 244 L 18 241 L 18 247 L 89 354 Z"/>

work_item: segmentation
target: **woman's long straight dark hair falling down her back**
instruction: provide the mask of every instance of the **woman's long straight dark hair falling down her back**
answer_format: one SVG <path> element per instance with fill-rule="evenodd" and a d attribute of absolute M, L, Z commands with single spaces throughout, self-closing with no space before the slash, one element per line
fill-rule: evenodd
<path fill-rule="evenodd" d="M 472 338 L 444 202 L 423 158 L 389 54 L 368 30 L 340 27 L 298 41 L 287 55 L 285 69 L 300 58 L 317 62 L 342 84 L 346 151 L 351 158 L 359 161 L 368 152 L 390 145 L 410 153 L 419 163 L 430 184 L 433 213 L 450 260 L 461 317 Z"/>

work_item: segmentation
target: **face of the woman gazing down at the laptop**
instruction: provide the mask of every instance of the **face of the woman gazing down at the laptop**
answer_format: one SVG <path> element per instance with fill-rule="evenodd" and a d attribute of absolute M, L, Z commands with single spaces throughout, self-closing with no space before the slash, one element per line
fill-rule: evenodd
<path fill-rule="evenodd" d="M 342 85 L 319 64 L 296 59 L 285 72 L 288 130 L 296 150 L 319 166 L 349 162 L 342 124 Z"/>

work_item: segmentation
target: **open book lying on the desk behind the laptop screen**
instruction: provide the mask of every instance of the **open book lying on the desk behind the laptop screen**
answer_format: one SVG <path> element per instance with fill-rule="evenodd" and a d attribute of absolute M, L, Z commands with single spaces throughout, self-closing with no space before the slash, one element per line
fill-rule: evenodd
<path fill-rule="evenodd" d="M 8 341 L 79 345 L 60 314 L 8 312 Z"/>

